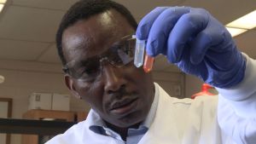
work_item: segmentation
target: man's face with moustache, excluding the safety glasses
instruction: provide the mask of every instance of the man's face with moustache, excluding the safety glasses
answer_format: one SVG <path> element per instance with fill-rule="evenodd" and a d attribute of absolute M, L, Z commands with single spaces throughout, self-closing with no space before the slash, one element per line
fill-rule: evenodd
<path fill-rule="evenodd" d="M 121 14 L 108 10 L 69 26 L 62 36 L 63 53 L 67 62 L 88 61 L 134 32 Z M 150 73 L 135 67 L 133 62 L 123 67 L 106 62 L 101 69 L 100 78 L 93 81 L 66 75 L 67 87 L 110 124 L 126 128 L 142 122 L 154 99 Z"/>

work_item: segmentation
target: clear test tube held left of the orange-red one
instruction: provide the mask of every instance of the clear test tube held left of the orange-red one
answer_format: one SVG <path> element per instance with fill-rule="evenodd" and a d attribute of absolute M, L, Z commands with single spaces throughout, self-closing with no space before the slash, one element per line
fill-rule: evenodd
<path fill-rule="evenodd" d="M 145 40 L 140 40 L 140 39 L 136 38 L 134 65 L 137 67 L 143 66 L 145 43 L 146 43 Z"/>

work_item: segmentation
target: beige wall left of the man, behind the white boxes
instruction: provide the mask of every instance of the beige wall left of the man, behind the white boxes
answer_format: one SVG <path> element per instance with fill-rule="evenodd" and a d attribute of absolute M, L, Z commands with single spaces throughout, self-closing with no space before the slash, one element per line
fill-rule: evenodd
<path fill-rule="evenodd" d="M 21 118 L 28 110 L 28 95 L 32 92 L 70 94 L 59 65 L 0 60 L 0 74 L 5 77 L 5 82 L 0 84 L 0 97 L 13 99 L 12 118 Z M 89 109 L 84 101 L 73 96 L 70 108 L 71 111 Z M 11 136 L 11 144 L 20 144 L 20 140 L 20 135 Z"/>

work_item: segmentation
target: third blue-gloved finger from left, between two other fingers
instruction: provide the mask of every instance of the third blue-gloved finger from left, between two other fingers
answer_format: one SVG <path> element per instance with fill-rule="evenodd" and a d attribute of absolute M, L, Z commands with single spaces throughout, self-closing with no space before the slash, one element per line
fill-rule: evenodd
<path fill-rule="evenodd" d="M 177 63 L 181 60 L 185 45 L 190 45 L 190 41 L 195 38 L 196 34 L 207 26 L 207 14 L 204 9 L 191 9 L 190 13 L 183 14 L 177 20 L 177 24 L 173 27 L 167 42 L 167 58 L 169 61 Z"/>

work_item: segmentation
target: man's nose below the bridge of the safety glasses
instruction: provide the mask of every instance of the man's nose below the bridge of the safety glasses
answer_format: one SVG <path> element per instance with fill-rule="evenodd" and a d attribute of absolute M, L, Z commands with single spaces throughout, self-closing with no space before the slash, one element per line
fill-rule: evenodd
<path fill-rule="evenodd" d="M 105 92 L 112 94 L 120 88 L 125 87 L 127 81 L 124 77 L 124 70 L 119 67 L 114 67 L 110 64 L 103 66 L 103 76 L 105 78 Z"/>

